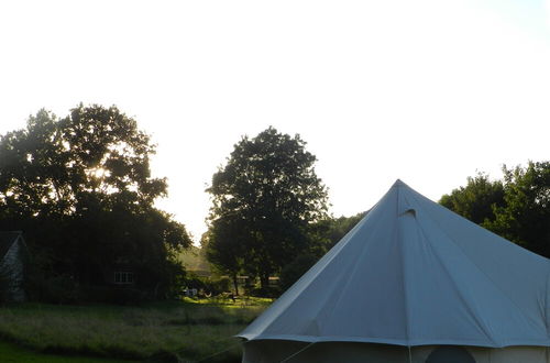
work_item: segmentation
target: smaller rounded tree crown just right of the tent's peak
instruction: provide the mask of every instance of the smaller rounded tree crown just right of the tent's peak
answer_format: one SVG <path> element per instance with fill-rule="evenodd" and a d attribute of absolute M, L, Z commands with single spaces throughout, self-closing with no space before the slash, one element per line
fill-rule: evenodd
<path fill-rule="evenodd" d="M 439 202 L 474 223 L 495 219 L 494 208 L 504 206 L 504 186 L 499 180 L 490 180 L 486 174 L 469 177 L 465 187 L 453 189 Z"/>

